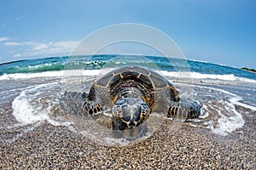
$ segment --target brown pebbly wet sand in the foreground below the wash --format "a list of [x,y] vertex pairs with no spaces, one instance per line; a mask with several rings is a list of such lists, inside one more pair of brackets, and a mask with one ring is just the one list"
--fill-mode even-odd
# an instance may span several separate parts
[[[6,110],[6,108],[9,108]],[[10,105],[1,125],[12,124]],[[172,133],[166,120],[148,139],[128,146],[98,144],[67,127],[41,123],[20,134],[19,127],[0,132],[0,169],[253,169],[256,167],[255,112],[237,106],[245,125],[228,136],[188,123]],[[171,132],[171,133],[170,133]]]

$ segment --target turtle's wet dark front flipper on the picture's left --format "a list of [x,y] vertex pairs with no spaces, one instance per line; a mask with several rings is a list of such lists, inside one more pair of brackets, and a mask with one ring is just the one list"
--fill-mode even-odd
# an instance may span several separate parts
[[94,116],[96,112],[102,111],[102,106],[93,100],[88,100],[87,94],[79,92],[65,92],[63,103],[67,113],[79,116]]

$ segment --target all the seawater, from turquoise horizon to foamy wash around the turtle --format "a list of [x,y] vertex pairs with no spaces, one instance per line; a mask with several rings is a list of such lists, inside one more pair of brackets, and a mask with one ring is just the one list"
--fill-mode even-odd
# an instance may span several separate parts
[[[3,117],[0,128],[19,129],[15,138],[5,142],[12,142],[47,121],[106,144],[129,144],[125,139],[112,137],[109,108],[103,111],[103,118],[81,119],[68,114],[66,105],[77,98],[67,100],[64,95],[65,91],[88,93],[93,82],[122,65],[141,65],[159,72],[174,84],[181,97],[194,99],[202,106],[199,119],[170,120],[173,133],[187,123],[206,128],[210,133],[229,135],[244,126],[244,114],[256,111],[256,74],[226,65],[141,55],[29,59],[0,65],[0,113]],[[7,118],[7,114],[14,120]],[[144,138],[152,135],[166,119],[165,114],[152,113]]]

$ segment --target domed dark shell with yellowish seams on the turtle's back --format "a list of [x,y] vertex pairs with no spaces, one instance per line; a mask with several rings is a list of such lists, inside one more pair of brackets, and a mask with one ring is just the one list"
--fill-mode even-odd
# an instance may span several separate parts
[[114,84],[124,78],[137,79],[142,82],[145,87],[151,88],[154,91],[169,88],[171,94],[173,94],[172,98],[174,98],[174,100],[177,99],[177,90],[173,87],[171,82],[166,80],[165,77],[160,76],[160,74],[139,66],[124,66],[111,71],[100,78],[95,85],[102,88],[112,88]]

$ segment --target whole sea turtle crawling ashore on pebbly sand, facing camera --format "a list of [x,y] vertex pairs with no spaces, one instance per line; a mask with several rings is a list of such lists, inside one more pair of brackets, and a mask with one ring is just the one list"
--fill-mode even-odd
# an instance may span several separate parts
[[181,120],[197,118],[201,106],[180,99],[176,88],[155,71],[139,66],[124,66],[97,80],[89,94],[79,94],[83,102],[75,108],[82,116],[94,116],[111,108],[113,129],[125,130],[145,122],[152,111]]

